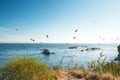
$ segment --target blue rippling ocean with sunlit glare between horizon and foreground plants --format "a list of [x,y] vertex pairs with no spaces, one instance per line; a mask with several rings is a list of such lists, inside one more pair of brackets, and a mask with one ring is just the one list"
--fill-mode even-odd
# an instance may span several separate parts
[[[68,47],[77,46],[76,49]],[[13,57],[31,56],[40,58],[48,65],[57,65],[62,61],[62,66],[84,65],[97,60],[100,53],[105,54],[106,60],[113,61],[117,55],[118,44],[61,44],[61,43],[0,43],[0,67],[7,59]],[[98,50],[86,50],[87,48],[100,48]],[[43,49],[49,49],[55,54],[44,55]]]

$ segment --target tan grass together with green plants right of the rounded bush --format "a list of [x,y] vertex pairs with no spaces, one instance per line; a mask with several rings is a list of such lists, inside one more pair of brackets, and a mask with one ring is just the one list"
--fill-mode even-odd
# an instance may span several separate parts
[[[58,80],[77,80],[79,78],[83,80],[120,80],[120,64],[114,61],[108,63],[106,58],[103,53],[100,53],[98,60],[88,63],[87,70],[83,65],[78,66],[77,64],[73,68],[67,67],[67,71],[60,68],[57,70],[57,77],[60,78]],[[61,74],[65,76],[60,77]],[[69,77],[67,77],[68,75]]]

